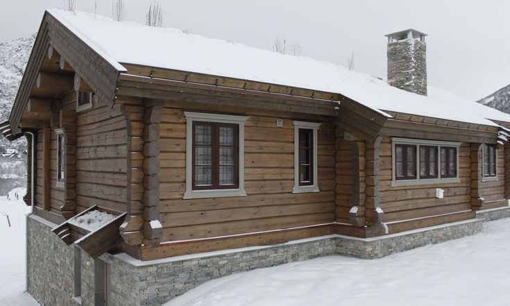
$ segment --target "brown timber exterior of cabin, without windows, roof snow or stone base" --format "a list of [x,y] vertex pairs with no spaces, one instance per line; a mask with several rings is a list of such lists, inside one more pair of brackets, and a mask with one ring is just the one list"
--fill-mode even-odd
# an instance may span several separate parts
[[[115,70],[46,14],[2,133],[35,134],[35,214],[62,223],[90,207],[126,213],[116,248],[141,260],[330,234],[375,237],[508,205],[509,146],[498,149],[497,179],[482,175],[482,145],[498,142],[495,126],[386,110],[389,118],[341,93],[123,65]],[[78,91],[94,94],[91,108],[76,110]],[[248,117],[246,195],[185,198],[185,112]],[[293,192],[294,121],[320,124],[318,192]],[[459,142],[458,181],[394,185],[395,137]]]

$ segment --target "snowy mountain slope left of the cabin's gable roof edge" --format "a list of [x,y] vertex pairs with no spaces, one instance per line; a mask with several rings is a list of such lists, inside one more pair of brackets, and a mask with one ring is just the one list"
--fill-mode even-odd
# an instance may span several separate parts
[[[34,40],[35,34],[0,43],[0,121],[8,119]],[[0,137],[0,146],[6,144]]]

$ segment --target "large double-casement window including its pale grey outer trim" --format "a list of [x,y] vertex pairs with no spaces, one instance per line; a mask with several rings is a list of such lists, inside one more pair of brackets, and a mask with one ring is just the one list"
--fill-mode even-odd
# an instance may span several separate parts
[[184,198],[246,196],[244,123],[248,117],[185,112]]

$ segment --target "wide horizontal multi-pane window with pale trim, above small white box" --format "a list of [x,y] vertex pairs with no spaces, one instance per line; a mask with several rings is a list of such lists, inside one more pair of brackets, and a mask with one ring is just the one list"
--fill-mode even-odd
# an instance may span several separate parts
[[392,139],[392,186],[459,182],[457,142]]

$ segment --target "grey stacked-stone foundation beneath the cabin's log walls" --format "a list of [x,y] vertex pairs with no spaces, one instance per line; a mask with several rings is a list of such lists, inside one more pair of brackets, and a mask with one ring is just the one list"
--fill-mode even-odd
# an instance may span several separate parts
[[[189,289],[232,273],[309,260],[325,255],[366,259],[482,232],[482,219],[434,226],[385,237],[359,239],[330,235],[272,246],[171,257],[141,262],[128,255],[105,254],[110,266],[110,304],[161,305]],[[74,247],[50,232],[53,224],[29,220],[28,291],[41,305],[78,305],[74,294]],[[94,260],[81,251],[81,305],[94,305]]]

